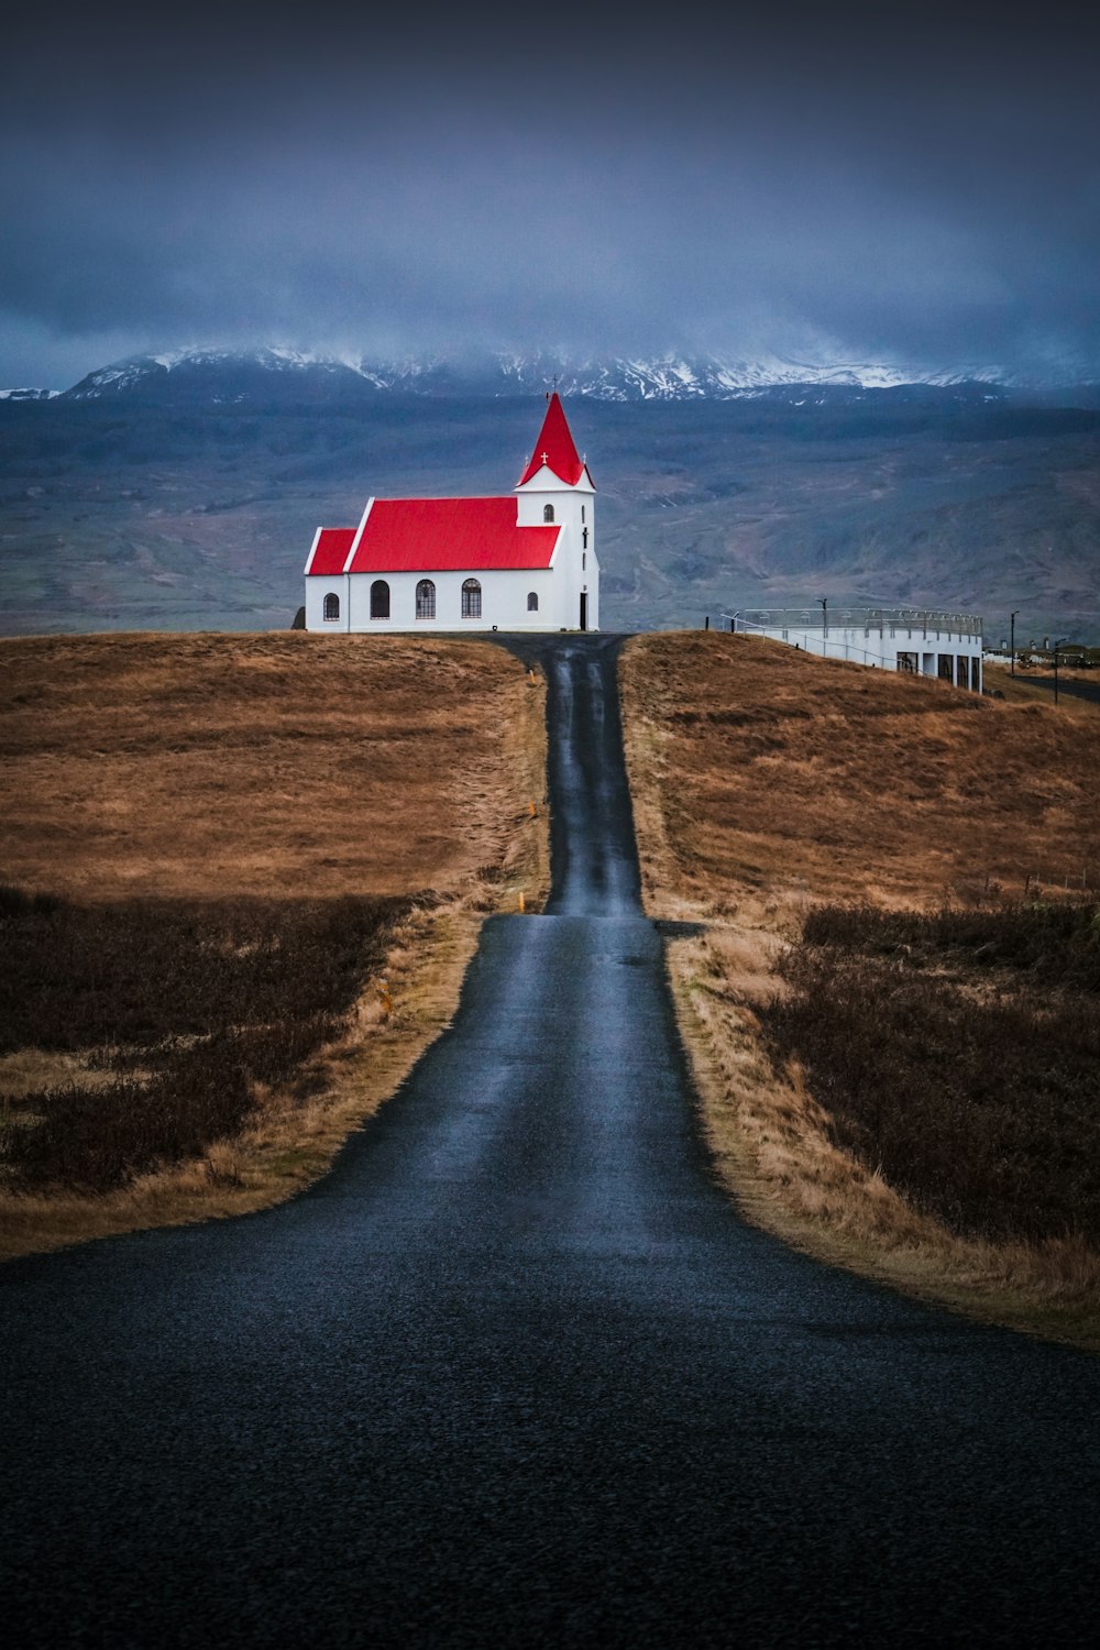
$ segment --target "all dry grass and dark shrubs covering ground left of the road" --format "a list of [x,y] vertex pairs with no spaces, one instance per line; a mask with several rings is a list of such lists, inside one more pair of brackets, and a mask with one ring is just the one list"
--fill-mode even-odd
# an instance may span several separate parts
[[289,1195],[546,891],[541,681],[407,637],[2,648],[0,1252]]

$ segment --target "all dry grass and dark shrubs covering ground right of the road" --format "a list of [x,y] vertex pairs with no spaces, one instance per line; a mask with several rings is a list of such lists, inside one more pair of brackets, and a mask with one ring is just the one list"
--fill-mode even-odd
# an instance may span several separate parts
[[[622,685],[648,908],[707,924],[670,970],[742,1204],[899,1287],[1100,1345],[1095,982],[1006,960],[1022,931],[1092,934],[1100,711],[714,634],[632,640]],[[1074,899],[1085,916],[1051,916]]]

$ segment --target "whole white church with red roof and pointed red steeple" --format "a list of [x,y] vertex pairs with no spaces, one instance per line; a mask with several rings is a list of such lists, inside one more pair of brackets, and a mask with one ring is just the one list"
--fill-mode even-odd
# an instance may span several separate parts
[[307,630],[599,630],[589,469],[557,391],[503,498],[368,498],[322,526],[305,563]]

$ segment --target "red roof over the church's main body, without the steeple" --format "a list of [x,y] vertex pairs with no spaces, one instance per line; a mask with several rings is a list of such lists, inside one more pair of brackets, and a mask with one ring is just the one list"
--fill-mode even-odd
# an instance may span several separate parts
[[307,573],[549,568],[561,526],[516,526],[511,497],[376,498],[361,528],[322,530]]

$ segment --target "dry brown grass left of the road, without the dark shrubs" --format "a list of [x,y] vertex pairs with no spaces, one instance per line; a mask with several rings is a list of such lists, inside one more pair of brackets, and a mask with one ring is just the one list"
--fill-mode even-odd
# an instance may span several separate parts
[[[366,982],[305,1104],[261,1094],[239,1138],[102,1196],[5,1195],[0,1254],[289,1196],[447,1023],[482,912],[546,894],[541,678],[490,644],[294,632],[38,637],[0,663],[0,879],[84,903],[434,894],[393,936],[393,1006]],[[21,1049],[3,1086],[86,1064]]]

